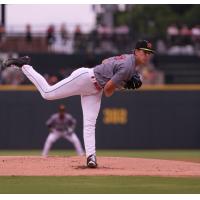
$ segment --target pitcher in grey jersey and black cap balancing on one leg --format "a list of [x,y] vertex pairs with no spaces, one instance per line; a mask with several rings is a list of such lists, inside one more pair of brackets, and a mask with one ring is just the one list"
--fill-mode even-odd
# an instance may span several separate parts
[[115,90],[124,88],[134,90],[141,87],[142,81],[136,68],[148,63],[152,53],[154,53],[152,44],[141,40],[136,43],[133,53],[108,58],[94,68],[79,68],[55,85],[49,85],[44,77],[29,65],[28,56],[8,59],[3,63],[3,67],[13,65],[21,67],[23,73],[37,87],[44,99],[81,96],[87,166],[95,168],[97,167],[95,126],[102,93],[109,97]]

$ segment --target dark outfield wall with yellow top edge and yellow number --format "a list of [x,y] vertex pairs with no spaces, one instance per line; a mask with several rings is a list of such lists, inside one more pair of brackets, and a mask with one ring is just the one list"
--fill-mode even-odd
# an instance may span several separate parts
[[[65,103],[83,143],[80,97],[46,101],[32,86],[0,88],[0,149],[41,149],[45,121]],[[200,86],[146,86],[102,99],[98,149],[200,148]],[[59,140],[54,148],[73,148]]]

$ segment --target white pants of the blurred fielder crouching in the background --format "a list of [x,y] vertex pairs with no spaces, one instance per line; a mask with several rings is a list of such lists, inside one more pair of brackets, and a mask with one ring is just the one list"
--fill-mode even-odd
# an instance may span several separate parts
[[51,133],[49,133],[49,135],[45,141],[44,148],[42,151],[42,156],[47,156],[53,143],[55,143],[61,137],[68,140],[69,142],[71,142],[74,145],[77,155],[79,155],[79,156],[84,155],[84,151],[81,146],[80,140],[78,139],[78,137],[75,133],[71,133],[69,135],[66,132],[53,130]]

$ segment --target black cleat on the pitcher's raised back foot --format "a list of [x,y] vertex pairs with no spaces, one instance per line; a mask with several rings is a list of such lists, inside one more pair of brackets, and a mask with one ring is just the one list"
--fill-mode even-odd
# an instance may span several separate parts
[[7,67],[11,67],[12,65],[15,65],[17,67],[22,67],[23,65],[29,64],[31,61],[31,58],[29,56],[23,56],[19,58],[9,58],[8,60],[5,60],[2,64],[2,68],[5,69]]

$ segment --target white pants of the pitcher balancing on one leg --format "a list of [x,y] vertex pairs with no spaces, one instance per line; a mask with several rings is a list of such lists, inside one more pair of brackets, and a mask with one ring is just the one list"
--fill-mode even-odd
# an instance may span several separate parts
[[98,90],[92,81],[92,77],[94,77],[93,69],[79,68],[69,77],[52,86],[32,66],[24,65],[22,71],[37,87],[44,99],[55,100],[75,95],[81,96],[86,156],[96,154],[95,127],[103,90]]

